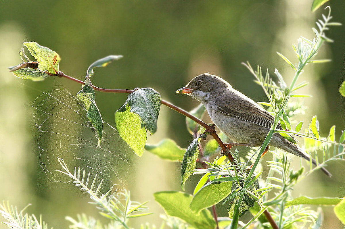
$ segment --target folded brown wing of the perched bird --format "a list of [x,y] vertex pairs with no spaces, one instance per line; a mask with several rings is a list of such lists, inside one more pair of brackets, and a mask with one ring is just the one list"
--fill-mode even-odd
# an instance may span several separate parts
[[[270,113],[259,107],[258,104],[248,97],[238,96],[238,94],[234,94],[231,97],[220,96],[215,102],[217,109],[226,115],[231,115],[268,129],[271,128],[274,122],[274,117]],[[283,130],[279,124],[276,129]]]

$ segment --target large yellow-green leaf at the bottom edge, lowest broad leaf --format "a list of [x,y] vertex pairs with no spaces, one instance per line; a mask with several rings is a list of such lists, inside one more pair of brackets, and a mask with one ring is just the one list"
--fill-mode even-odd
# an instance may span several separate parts
[[202,210],[198,215],[192,212],[189,204],[193,196],[184,192],[165,191],[154,193],[156,202],[164,209],[169,216],[178,217],[196,229],[214,229],[216,222],[211,212]]

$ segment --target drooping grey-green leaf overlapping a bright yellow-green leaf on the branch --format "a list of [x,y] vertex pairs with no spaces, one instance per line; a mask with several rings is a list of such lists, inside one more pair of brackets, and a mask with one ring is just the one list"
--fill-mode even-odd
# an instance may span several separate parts
[[[160,101],[160,94],[157,91],[152,88],[141,88],[130,93],[126,103],[130,106],[130,112],[139,115],[141,128],[146,127],[148,131],[155,133],[157,130]],[[124,106],[118,112],[124,111]]]

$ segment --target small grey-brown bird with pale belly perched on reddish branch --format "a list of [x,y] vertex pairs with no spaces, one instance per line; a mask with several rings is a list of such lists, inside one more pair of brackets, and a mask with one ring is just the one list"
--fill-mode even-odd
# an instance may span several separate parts
[[[235,90],[224,79],[209,73],[200,74],[176,93],[188,94],[201,102],[215,125],[233,142],[262,146],[274,117],[256,102]],[[283,128],[278,125],[278,130]],[[274,133],[270,146],[280,148],[309,161],[309,155],[298,145]],[[267,148],[268,150],[268,148]],[[316,165],[315,159],[312,159]],[[332,176],[325,168],[321,168]]]

